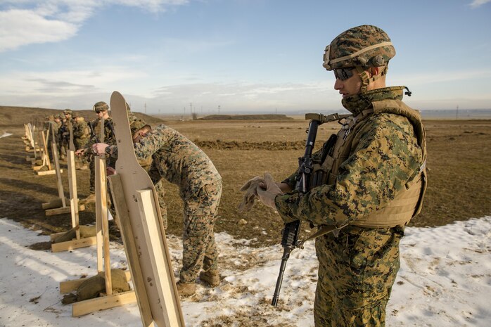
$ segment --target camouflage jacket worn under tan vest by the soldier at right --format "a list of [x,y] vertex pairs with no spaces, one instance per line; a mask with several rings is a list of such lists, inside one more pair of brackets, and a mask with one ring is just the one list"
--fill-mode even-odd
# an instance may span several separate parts
[[[356,116],[373,108],[376,101],[396,99],[402,99],[399,88],[384,88],[344,98],[343,105]],[[305,194],[293,191],[276,196],[276,209],[285,222],[300,219],[316,226],[353,222],[390,203],[402,181],[419,173],[426,158],[407,117],[371,114],[359,124],[333,183],[315,186]],[[320,156],[319,150],[312,157],[315,161]],[[294,187],[294,180],[295,174],[284,182]]]

